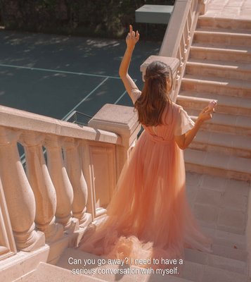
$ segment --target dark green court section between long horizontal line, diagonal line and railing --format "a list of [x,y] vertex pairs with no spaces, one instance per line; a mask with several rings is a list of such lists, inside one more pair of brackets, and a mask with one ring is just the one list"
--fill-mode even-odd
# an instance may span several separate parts
[[62,119],[102,81],[80,75],[44,73],[0,66],[2,105]]

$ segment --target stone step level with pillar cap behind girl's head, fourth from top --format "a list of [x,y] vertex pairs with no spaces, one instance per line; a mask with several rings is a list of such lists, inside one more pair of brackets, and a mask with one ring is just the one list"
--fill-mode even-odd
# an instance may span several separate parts
[[251,66],[250,63],[189,59],[186,63],[186,73],[189,75],[250,80]]

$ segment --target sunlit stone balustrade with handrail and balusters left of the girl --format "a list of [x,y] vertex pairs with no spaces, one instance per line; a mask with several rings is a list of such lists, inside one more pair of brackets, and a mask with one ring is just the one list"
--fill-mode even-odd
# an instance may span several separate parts
[[139,132],[136,113],[122,108],[130,125],[116,134],[105,116],[110,131],[0,106],[0,258],[55,243],[103,214]]

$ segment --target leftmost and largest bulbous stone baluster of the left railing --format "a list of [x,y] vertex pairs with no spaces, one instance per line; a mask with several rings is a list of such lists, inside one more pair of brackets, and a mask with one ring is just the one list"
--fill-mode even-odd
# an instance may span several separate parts
[[20,133],[0,127],[0,173],[18,250],[30,252],[44,246],[44,233],[34,231],[36,204],[18,154]]

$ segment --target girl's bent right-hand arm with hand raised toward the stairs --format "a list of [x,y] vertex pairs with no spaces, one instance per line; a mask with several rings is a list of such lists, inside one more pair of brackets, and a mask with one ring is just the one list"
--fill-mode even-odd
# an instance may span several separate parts
[[186,149],[190,145],[195,135],[198,133],[198,130],[200,129],[202,123],[212,118],[212,113],[214,113],[214,109],[209,109],[207,106],[202,110],[191,130],[189,130],[184,135],[175,136],[175,141],[181,149]]

